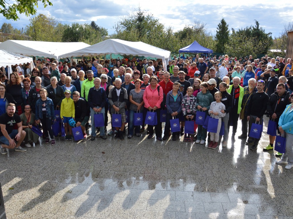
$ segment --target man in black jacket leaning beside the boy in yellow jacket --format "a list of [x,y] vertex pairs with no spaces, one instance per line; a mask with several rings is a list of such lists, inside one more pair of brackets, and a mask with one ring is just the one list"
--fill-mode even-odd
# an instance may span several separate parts
[[72,93],[73,101],[74,101],[74,108],[75,108],[75,121],[76,126],[81,127],[81,131],[84,135],[84,139],[86,138],[86,123],[90,119],[90,115],[88,112],[88,105],[83,98],[80,98],[80,94],[78,91],[74,91]]

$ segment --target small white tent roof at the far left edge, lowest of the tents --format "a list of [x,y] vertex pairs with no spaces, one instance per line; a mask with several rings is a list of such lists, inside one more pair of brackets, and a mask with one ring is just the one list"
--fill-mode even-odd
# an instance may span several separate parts
[[33,59],[24,55],[11,53],[0,49],[0,67],[6,65],[19,65],[20,63],[33,62]]

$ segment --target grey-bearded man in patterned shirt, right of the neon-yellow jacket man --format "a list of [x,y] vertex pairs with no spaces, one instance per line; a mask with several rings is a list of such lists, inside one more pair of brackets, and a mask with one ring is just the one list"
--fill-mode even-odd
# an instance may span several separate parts
[[[247,116],[248,116],[248,105],[251,99],[251,95],[257,92],[256,89],[256,80],[251,78],[248,80],[248,86],[243,88],[243,99],[241,103],[241,109],[244,109],[244,118],[241,120],[242,122],[242,134],[238,136],[239,139],[247,138]],[[249,130],[250,131],[250,130]]]

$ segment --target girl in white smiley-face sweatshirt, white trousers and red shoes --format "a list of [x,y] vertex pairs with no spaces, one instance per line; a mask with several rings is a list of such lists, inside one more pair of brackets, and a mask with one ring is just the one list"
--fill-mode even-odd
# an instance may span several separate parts
[[219,133],[222,125],[222,117],[226,116],[226,113],[222,113],[222,110],[225,110],[225,105],[221,102],[222,99],[222,93],[220,91],[215,93],[215,99],[216,101],[211,103],[211,106],[209,107],[209,114],[213,115],[214,118],[218,119],[218,128],[217,133],[211,134],[211,141],[209,142],[208,148],[216,149],[218,147],[218,141],[219,141]]

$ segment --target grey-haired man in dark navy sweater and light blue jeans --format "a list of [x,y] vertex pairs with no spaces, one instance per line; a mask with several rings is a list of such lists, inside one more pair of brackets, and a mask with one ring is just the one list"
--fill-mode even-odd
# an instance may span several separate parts
[[[106,91],[103,87],[100,86],[101,79],[95,78],[92,88],[88,91],[88,105],[91,107],[91,141],[96,139],[96,126],[94,120],[94,114],[102,113],[103,114],[103,123],[105,121],[105,105],[107,104],[106,100]],[[105,136],[105,127],[100,127],[100,138],[106,140]]]

